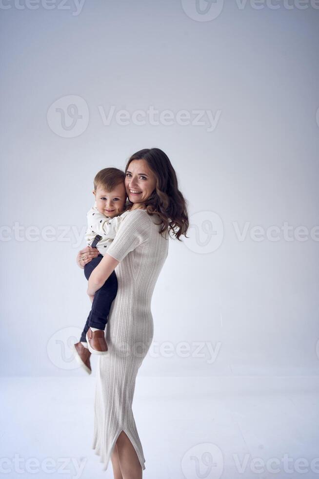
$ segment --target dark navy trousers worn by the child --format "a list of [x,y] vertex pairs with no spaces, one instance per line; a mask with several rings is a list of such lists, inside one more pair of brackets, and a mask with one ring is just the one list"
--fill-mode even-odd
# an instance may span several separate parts
[[[88,280],[94,268],[100,263],[103,255],[99,254],[84,266],[85,278]],[[102,287],[96,291],[90,314],[86,320],[80,341],[86,342],[86,333],[90,326],[104,329],[110,308],[118,292],[118,279],[113,271]]]

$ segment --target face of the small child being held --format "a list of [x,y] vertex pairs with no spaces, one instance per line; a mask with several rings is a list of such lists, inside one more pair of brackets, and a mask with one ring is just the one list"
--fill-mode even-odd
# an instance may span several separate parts
[[97,191],[93,191],[93,193],[97,202],[97,208],[103,215],[113,218],[124,211],[126,201],[124,182],[119,183],[112,191],[106,191],[98,185]]

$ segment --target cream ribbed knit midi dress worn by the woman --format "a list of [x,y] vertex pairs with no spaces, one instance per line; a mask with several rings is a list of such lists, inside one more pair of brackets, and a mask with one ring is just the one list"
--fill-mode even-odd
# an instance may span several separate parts
[[146,210],[124,213],[107,253],[120,261],[115,268],[118,292],[105,329],[107,354],[99,356],[94,407],[93,449],[108,468],[121,431],[132,442],[142,469],[145,458],[132,402],[135,380],[153,339],[151,299],[168,254],[168,235],[159,234],[159,217]]

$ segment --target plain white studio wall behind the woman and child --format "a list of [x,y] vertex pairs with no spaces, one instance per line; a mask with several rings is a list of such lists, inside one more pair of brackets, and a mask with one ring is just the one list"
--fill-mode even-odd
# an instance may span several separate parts
[[82,374],[93,177],[151,147],[192,226],[139,374],[318,374],[319,5],[202,1],[1,4],[1,375]]

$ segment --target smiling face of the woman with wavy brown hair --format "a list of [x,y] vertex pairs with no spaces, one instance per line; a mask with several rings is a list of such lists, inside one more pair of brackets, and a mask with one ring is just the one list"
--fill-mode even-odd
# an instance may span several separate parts
[[127,196],[132,203],[144,203],[153,193],[156,176],[148,167],[146,160],[132,160],[125,177]]

